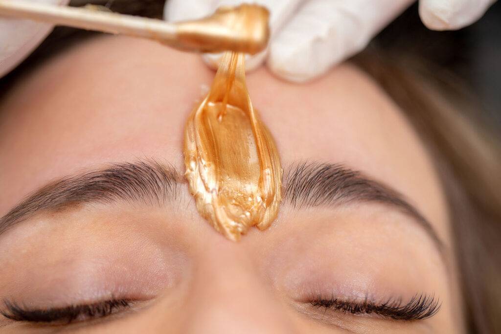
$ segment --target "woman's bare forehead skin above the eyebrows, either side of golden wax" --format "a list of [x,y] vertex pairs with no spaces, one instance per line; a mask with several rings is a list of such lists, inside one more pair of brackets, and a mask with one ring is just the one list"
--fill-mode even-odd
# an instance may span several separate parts
[[[153,157],[183,169],[184,123],[213,75],[196,55],[122,37],[88,41],[43,65],[0,105],[0,215],[82,168]],[[361,170],[402,192],[444,231],[431,160],[367,76],[342,65],[306,85],[264,69],[247,79],[284,166],[308,159]]]

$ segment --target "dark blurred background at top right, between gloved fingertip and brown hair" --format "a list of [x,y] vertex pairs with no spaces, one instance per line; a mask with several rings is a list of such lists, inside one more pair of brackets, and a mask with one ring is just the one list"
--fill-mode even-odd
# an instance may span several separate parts
[[473,25],[428,30],[413,5],[374,40],[392,53],[413,55],[454,73],[479,99],[481,112],[501,131],[501,2]]

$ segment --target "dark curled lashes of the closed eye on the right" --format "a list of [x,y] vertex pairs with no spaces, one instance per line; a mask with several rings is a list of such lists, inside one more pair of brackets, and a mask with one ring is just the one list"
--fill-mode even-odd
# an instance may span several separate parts
[[351,314],[376,314],[394,320],[422,320],[433,316],[440,309],[438,299],[424,294],[415,295],[407,303],[402,301],[387,301],[375,303],[372,301],[352,301],[339,298],[312,298],[310,304],[314,307],[331,309]]

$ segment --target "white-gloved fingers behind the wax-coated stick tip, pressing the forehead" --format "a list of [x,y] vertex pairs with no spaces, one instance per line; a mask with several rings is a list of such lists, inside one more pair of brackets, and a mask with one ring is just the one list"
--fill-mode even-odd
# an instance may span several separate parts
[[[455,30],[478,20],[495,0],[420,0],[419,14],[432,30]],[[171,22],[207,16],[222,5],[243,0],[168,0]],[[414,0],[250,0],[271,13],[267,51],[247,57],[247,70],[265,60],[272,72],[305,82],[365,48],[369,41]],[[412,37],[409,37],[412,38]],[[218,55],[204,55],[210,66]]]

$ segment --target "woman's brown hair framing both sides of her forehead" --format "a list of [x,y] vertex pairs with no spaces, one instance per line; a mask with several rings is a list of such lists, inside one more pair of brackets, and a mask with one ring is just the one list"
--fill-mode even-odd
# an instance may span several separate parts
[[[89,1],[73,1],[73,5]],[[159,18],[163,0],[97,0],[115,12]],[[0,91],[62,48],[94,33],[57,28]],[[469,332],[501,332],[501,151],[458,79],[422,62],[369,47],[352,61],[387,92],[418,130],[445,189]]]

